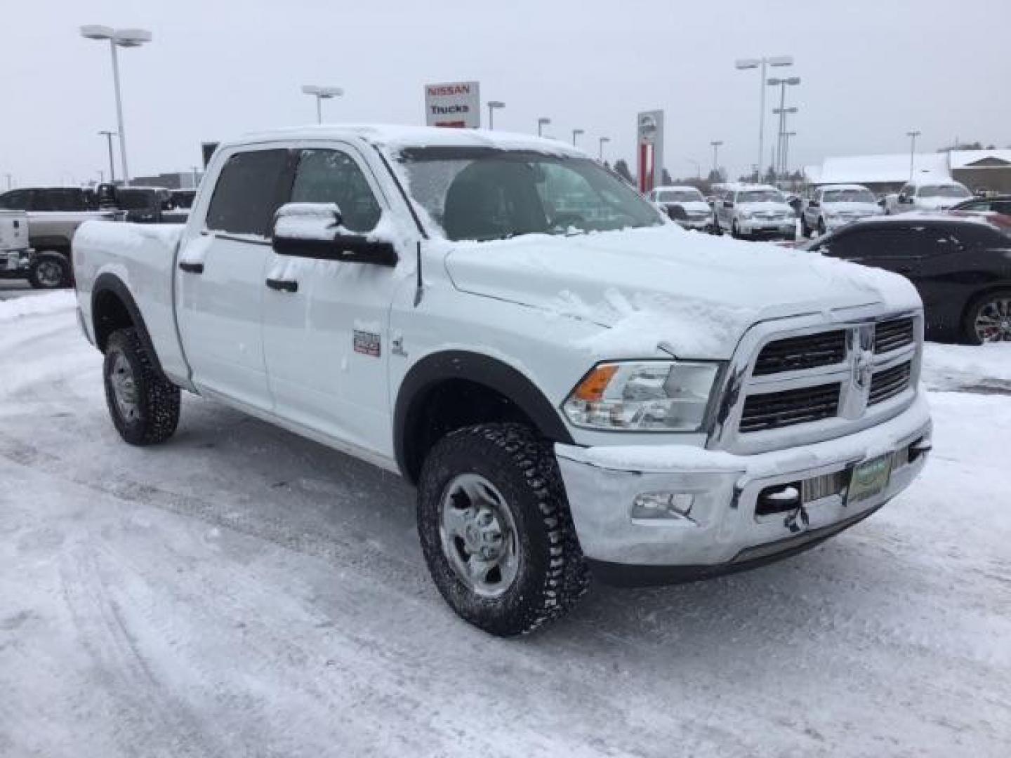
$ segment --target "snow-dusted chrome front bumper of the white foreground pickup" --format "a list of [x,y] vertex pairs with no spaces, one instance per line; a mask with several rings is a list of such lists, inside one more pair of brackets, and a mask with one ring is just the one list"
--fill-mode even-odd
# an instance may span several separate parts
[[[734,455],[691,446],[580,448],[558,444],[562,479],[583,554],[618,583],[685,580],[792,555],[852,526],[908,487],[925,452],[893,469],[876,495],[846,503],[845,489],[805,501],[807,524],[786,512],[758,514],[769,487],[841,473],[862,461],[929,447],[922,394],[898,416],[847,437],[802,448]],[[694,495],[691,517],[639,519],[637,495]],[[626,569],[625,572],[622,569]],[[627,574],[622,578],[620,574]]]

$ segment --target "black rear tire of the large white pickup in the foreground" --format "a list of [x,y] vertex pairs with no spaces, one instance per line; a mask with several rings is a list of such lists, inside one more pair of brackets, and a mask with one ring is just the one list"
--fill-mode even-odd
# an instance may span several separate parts
[[[118,379],[113,374],[131,382],[131,412],[117,400],[114,385]],[[155,372],[136,329],[119,329],[109,336],[102,378],[109,415],[124,442],[156,445],[172,437],[179,425],[179,387]]]

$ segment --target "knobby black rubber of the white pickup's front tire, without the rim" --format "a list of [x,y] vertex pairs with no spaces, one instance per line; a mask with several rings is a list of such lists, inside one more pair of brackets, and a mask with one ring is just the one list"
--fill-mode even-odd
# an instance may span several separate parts
[[[515,522],[517,573],[496,597],[468,587],[443,549],[442,501],[461,474],[492,483]],[[563,615],[588,586],[558,462],[550,445],[523,424],[468,427],[436,444],[419,482],[418,532],[446,602],[460,618],[497,637],[532,632]]]

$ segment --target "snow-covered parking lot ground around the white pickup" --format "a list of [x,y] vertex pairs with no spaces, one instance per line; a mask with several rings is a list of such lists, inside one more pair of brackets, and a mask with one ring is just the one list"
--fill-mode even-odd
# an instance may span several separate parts
[[0,756],[1011,755],[1011,345],[928,346],[870,519],[513,641],[395,477],[189,396],[128,447],[99,369],[70,293],[0,302]]

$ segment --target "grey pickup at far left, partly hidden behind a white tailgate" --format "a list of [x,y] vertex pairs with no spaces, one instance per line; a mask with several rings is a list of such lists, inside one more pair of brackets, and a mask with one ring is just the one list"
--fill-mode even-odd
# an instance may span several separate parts
[[0,195],[0,209],[22,210],[28,217],[31,253],[16,276],[36,289],[71,285],[71,240],[77,227],[92,218],[114,217],[98,210],[98,198],[81,187],[25,187]]

